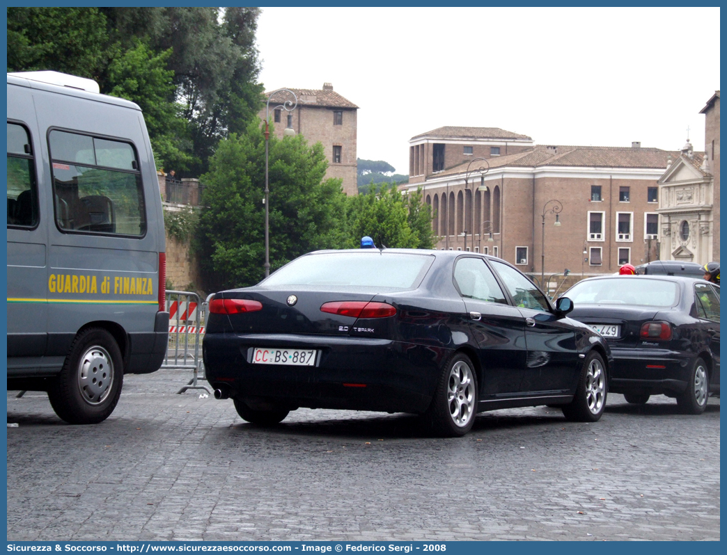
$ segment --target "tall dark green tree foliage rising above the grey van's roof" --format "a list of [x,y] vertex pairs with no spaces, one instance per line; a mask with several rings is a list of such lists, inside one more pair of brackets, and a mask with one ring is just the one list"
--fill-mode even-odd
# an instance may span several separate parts
[[158,167],[197,177],[262,107],[260,8],[11,7],[8,71],[95,79],[144,111]]

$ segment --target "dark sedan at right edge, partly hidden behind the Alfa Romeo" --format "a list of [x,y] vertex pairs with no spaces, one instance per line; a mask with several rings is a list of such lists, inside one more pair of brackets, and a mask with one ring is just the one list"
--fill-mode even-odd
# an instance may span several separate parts
[[720,392],[720,286],[667,275],[583,280],[565,295],[571,317],[611,344],[611,392],[643,404],[651,395],[675,397],[700,414]]

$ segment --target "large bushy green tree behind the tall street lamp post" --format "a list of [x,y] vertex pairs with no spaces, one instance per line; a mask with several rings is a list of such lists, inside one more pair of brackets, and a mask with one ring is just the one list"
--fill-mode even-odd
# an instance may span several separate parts
[[[301,254],[345,240],[346,196],[340,179],[325,179],[320,143],[270,134],[270,270]],[[265,139],[260,120],[222,140],[202,177],[204,205],[198,248],[209,289],[253,285],[264,277]],[[341,218],[340,215],[344,214]]]

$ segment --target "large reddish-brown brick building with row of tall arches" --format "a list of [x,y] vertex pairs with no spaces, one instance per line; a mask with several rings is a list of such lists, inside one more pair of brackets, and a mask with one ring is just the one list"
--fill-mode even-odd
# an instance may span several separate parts
[[[457,129],[475,131],[457,138],[457,131],[449,132]],[[448,142],[434,142],[437,137]],[[429,142],[422,142],[425,138]],[[499,153],[491,150],[495,141],[505,143]],[[541,271],[550,275],[566,268],[574,274],[608,274],[626,262],[658,258],[657,182],[678,152],[642,148],[638,142],[631,147],[533,145],[530,137],[492,128],[444,127],[410,143],[420,147],[418,154],[410,150],[410,159],[419,155],[421,173],[415,175],[417,163],[411,164],[409,185],[403,187],[421,187],[432,206],[436,248],[494,254],[537,278]],[[435,156],[441,152],[438,144],[445,145],[443,168]],[[486,173],[478,171],[481,167]],[[558,214],[556,201],[562,205]]]

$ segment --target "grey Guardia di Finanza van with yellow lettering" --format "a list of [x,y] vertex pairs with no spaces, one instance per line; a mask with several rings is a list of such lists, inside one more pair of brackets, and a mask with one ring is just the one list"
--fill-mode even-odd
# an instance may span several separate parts
[[7,386],[71,424],[166,351],[164,213],[140,108],[95,81],[7,75]]

